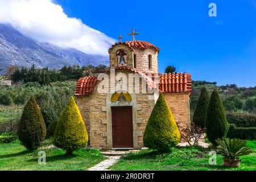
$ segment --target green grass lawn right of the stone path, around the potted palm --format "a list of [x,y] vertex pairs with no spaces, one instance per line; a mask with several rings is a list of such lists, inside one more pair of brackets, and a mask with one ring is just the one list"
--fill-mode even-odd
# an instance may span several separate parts
[[159,155],[154,150],[142,150],[135,154],[122,156],[111,170],[121,171],[201,171],[201,170],[256,170],[256,141],[249,141],[247,146],[253,148],[254,153],[242,156],[239,168],[223,167],[221,155],[217,155],[217,165],[209,164],[209,149],[202,147],[174,148],[170,154]]

